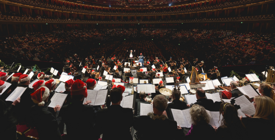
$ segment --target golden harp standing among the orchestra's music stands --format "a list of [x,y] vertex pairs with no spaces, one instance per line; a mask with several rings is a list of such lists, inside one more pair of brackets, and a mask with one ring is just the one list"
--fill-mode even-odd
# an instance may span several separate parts
[[200,78],[198,76],[198,71],[194,66],[192,66],[191,76],[190,76],[190,88],[202,88],[205,87],[205,83],[200,83]]

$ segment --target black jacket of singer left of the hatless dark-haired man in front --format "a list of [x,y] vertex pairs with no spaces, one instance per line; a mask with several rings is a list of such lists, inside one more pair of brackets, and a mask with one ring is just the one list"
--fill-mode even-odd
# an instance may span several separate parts
[[95,135],[96,112],[93,106],[83,105],[82,101],[62,106],[58,117],[66,124],[68,139],[91,139]]

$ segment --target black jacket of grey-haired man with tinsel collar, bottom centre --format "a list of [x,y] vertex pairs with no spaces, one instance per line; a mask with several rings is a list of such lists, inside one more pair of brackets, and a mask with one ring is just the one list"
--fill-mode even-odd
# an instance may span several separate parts
[[[138,131],[140,140],[182,140],[184,139],[183,129],[178,130],[177,122],[168,119],[165,115],[156,117],[156,114],[150,113],[150,116],[134,117],[134,129]],[[149,126],[154,129],[148,131]]]

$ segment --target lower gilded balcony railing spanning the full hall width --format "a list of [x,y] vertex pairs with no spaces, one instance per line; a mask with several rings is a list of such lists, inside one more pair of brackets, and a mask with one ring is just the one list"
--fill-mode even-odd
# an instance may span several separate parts
[[242,16],[233,18],[215,18],[215,19],[194,19],[194,20],[157,20],[157,21],[90,21],[90,20],[59,20],[59,19],[42,19],[42,18],[29,18],[29,17],[19,17],[19,16],[0,16],[0,21],[2,23],[54,23],[54,24],[109,24],[109,23],[191,23],[191,22],[230,22],[230,21],[273,21],[274,15],[261,15],[261,16]]

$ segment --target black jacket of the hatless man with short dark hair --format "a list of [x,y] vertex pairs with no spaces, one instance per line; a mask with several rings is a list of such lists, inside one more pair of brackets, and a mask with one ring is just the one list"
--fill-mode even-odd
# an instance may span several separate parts
[[132,140],[130,127],[133,123],[132,109],[112,105],[97,112],[95,130],[98,136],[103,134],[102,140]]

